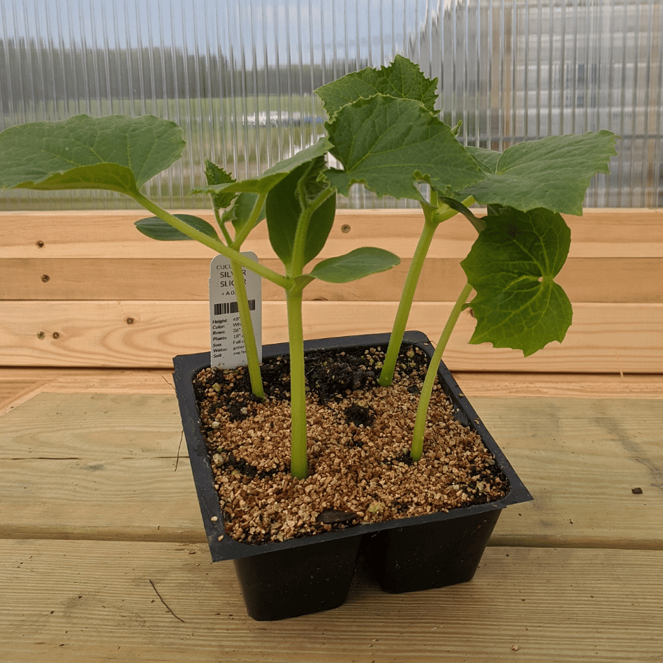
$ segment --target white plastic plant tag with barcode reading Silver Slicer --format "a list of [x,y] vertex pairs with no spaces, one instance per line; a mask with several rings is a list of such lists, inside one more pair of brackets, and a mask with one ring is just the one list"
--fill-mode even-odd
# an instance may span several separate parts
[[[242,253],[258,262],[258,256],[252,252]],[[242,268],[247,288],[247,299],[251,311],[258,361],[263,360],[262,334],[262,290],[261,277]],[[210,264],[210,360],[213,368],[237,368],[247,365],[247,353],[242,334],[240,309],[235,292],[235,279],[231,263],[226,256],[219,254]]]

